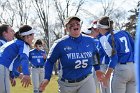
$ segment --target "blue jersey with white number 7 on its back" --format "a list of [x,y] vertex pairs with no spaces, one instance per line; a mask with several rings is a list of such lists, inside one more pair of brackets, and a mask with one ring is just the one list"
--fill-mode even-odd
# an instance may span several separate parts
[[[105,56],[110,57],[109,67],[114,68],[117,63],[134,62],[134,41],[126,31],[114,31],[114,43],[116,54],[111,55],[112,52],[112,37],[109,32],[106,34],[109,42],[103,46],[106,53]],[[105,40],[105,38],[104,38]],[[103,44],[102,44],[103,45]]]

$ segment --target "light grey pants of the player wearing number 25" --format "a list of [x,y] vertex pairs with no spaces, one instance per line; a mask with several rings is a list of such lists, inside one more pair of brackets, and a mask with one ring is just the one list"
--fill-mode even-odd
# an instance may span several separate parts
[[58,80],[59,93],[96,93],[93,74],[78,83],[68,83]]

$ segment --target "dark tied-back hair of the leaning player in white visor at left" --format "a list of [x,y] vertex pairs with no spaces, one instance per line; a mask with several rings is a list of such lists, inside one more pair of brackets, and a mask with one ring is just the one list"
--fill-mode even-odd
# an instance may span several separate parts
[[23,25],[23,26],[21,26],[21,27],[19,28],[19,31],[15,33],[15,37],[16,37],[17,39],[23,40],[23,36],[21,36],[20,34],[23,33],[23,32],[27,32],[27,31],[29,31],[29,30],[31,30],[31,29],[32,29],[31,26],[29,26],[29,25]]

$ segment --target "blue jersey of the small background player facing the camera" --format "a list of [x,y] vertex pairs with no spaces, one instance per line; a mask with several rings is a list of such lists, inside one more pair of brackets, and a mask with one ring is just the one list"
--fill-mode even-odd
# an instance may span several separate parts
[[34,67],[37,66],[44,66],[45,59],[43,55],[46,55],[46,52],[44,50],[37,50],[37,49],[32,49],[29,52],[29,61],[31,62],[31,65]]

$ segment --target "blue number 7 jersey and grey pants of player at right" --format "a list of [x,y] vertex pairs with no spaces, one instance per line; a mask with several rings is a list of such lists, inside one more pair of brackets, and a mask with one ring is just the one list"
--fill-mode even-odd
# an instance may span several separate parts
[[[111,58],[109,67],[114,68],[111,93],[136,93],[134,72],[134,41],[126,31],[113,31],[116,54],[111,56],[111,34],[105,35],[109,44],[103,45],[106,55]],[[107,47],[107,49],[106,49]]]

